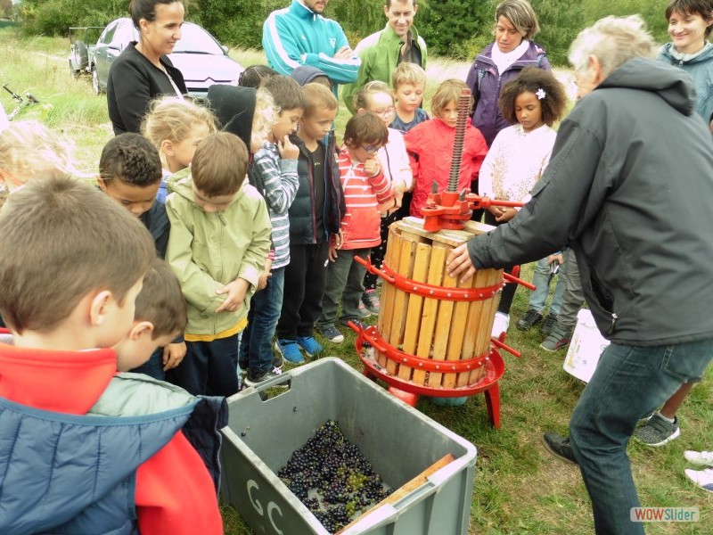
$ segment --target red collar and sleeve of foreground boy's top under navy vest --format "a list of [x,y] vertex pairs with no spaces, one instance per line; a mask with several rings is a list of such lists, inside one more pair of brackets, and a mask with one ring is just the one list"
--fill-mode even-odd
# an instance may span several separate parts
[[[54,351],[0,343],[0,397],[47,411],[84,415],[116,374],[113,350]],[[223,533],[216,490],[183,432],[136,471],[139,531]]]

